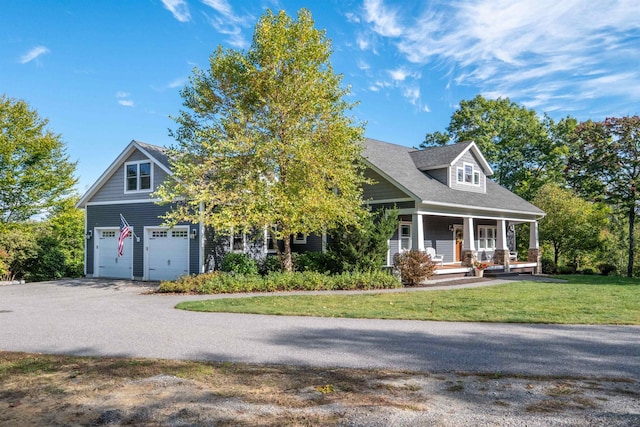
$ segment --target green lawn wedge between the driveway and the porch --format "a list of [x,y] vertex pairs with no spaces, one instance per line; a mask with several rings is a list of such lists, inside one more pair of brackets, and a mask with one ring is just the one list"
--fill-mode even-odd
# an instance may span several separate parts
[[193,301],[207,312],[469,322],[640,325],[640,280],[563,276],[474,289]]

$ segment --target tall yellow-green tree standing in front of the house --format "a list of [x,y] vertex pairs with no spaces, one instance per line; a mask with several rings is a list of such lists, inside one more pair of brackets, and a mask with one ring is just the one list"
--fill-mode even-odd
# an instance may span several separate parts
[[194,71],[171,133],[176,179],[157,192],[185,200],[168,222],[268,229],[291,271],[291,236],[358,221],[364,126],[347,115],[354,104],[330,55],[307,10],[296,20],[267,11],[248,51],[218,47]]

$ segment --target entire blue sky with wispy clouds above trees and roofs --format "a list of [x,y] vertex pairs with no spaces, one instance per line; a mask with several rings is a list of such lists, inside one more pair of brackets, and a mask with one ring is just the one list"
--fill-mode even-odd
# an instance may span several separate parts
[[636,0],[3,0],[0,93],[49,119],[83,193],[132,139],[172,144],[179,90],[218,45],[303,7],[371,138],[417,146],[477,94],[554,119],[640,113]]

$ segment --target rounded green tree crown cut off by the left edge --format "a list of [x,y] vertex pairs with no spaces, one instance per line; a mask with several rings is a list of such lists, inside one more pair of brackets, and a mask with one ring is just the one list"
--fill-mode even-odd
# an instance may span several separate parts
[[47,125],[26,102],[0,96],[0,223],[26,221],[72,192],[76,163]]

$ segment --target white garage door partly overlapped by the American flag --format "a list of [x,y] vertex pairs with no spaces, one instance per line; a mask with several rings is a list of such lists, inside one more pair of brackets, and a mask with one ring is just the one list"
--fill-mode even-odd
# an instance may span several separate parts
[[95,277],[133,279],[133,239],[131,234],[125,239],[122,256],[118,256],[120,229],[114,227],[95,230],[94,235],[97,236],[93,269]]

